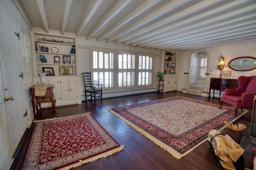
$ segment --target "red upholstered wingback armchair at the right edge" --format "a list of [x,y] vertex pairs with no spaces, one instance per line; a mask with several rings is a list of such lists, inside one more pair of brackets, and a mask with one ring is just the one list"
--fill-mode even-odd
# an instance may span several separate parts
[[222,108],[222,102],[231,104],[235,108],[234,117],[238,108],[252,108],[253,99],[256,96],[256,76],[240,76],[238,77],[238,88],[225,89],[225,93],[220,99],[220,109]]

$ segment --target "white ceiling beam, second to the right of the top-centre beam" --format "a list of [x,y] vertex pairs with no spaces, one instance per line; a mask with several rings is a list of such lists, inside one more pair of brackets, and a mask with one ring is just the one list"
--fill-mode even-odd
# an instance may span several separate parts
[[[153,11],[151,14],[147,15],[146,17],[134,22],[133,24],[127,26],[122,30],[122,32],[116,32],[116,34],[106,40],[106,42],[111,42],[113,40],[116,41],[117,38],[120,38],[122,36],[125,36],[129,34],[130,32],[140,28],[141,26],[144,26],[148,22],[152,22],[153,20],[157,19],[160,16],[163,16],[164,14],[182,6],[183,4],[186,4],[186,2],[189,2],[190,0],[173,0],[172,2],[166,4],[165,6],[158,8],[157,10]],[[116,42],[117,44],[120,43]]]

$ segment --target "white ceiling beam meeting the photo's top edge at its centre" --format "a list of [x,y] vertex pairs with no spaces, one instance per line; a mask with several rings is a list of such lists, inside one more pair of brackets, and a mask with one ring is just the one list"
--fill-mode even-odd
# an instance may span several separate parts
[[113,8],[111,8],[111,10],[100,20],[100,22],[98,22],[98,24],[94,26],[94,29],[91,30],[90,33],[86,36],[86,40],[89,40],[90,38],[92,38],[92,36],[94,36],[94,34],[96,34],[96,32],[104,28],[104,26],[106,26],[106,24],[108,24],[110,20],[118,15],[118,13],[121,12],[124,7],[126,7],[126,5],[128,5],[130,2],[132,2],[132,0],[118,1],[113,6]]

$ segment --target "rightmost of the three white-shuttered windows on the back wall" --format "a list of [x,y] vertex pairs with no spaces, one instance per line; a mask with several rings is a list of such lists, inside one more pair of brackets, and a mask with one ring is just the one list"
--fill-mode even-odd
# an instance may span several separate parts
[[152,84],[152,57],[139,55],[138,85],[147,86]]

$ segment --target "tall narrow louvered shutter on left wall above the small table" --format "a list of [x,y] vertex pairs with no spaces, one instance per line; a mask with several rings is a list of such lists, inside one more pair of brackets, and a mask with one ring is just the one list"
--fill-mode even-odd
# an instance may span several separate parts
[[29,86],[32,86],[30,39],[29,39],[29,36],[23,31],[20,32],[20,38],[21,38],[21,45],[22,45],[22,56],[24,58],[25,86],[26,88],[28,88]]

